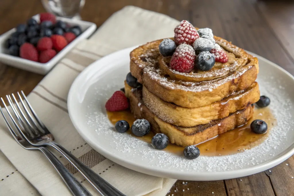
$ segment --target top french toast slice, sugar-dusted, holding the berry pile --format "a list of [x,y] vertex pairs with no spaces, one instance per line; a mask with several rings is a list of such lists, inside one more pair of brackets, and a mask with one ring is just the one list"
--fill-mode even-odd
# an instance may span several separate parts
[[[217,37],[215,36],[215,38]],[[138,82],[144,84],[151,93],[167,102],[175,103],[182,107],[197,108],[220,101],[234,92],[242,91],[251,86],[257,78],[259,69],[257,58],[230,42],[219,39],[223,42],[223,48],[227,48],[227,50],[231,48],[231,51],[235,52],[235,56],[240,56],[241,54],[239,53],[242,53],[240,57],[245,58],[246,56],[246,60],[244,59],[240,66],[235,66],[231,70],[232,72],[225,76],[219,75],[219,78],[201,82],[173,79],[181,75],[176,74],[177,76],[173,76],[170,73],[170,76],[165,69],[161,69],[162,67],[159,66],[158,60],[164,60],[158,51],[161,40],[149,42],[131,52],[131,74],[138,79]],[[218,41],[218,38],[216,41]],[[221,43],[220,41],[219,43]],[[195,74],[199,75],[200,73]]]

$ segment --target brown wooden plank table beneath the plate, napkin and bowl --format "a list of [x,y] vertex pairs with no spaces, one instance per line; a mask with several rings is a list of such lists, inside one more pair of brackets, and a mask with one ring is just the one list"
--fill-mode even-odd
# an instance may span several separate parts
[[[259,54],[294,74],[294,2],[86,0],[81,16],[83,20],[100,26],[113,12],[126,5],[157,11],[178,20],[186,19],[199,28],[210,27],[215,35]],[[0,34],[44,11],[40,0],[1,0]],[[20,90],[28,94],[43,77],[1,64],[0,96]],[[294,179],[291,176],[294,176],[294,156],[270,170],[247,177],[208,182],[187,181],[187,185],[183,185],[186,181],[178,180],[167,195],[294,195]]]

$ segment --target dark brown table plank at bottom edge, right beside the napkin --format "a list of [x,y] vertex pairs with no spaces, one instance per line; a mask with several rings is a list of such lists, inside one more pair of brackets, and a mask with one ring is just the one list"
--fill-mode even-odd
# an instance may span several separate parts
[[[186,182],[188,183],[186,184]],[[227,195],[223,180],[218,180],[218,181],[178,180],[166,196],[168,195],[172,196],[172,194],[174,196],[205,196],[205,195],[225,196]]]

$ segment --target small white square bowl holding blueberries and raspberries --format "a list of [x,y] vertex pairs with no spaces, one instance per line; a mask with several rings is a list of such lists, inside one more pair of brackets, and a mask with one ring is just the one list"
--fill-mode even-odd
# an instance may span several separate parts
[[[36,21],[40,21],[39,14],[33,16]],[[8,54],[8,49],[4,47],[6,39],[8,39],[12,33],[16,31],[13,28],[0,36],[0,62],[14,66],[16,68],[24,69],[27,71],[39,73],[45,75],[48,73],[58,61],[60,61],[66,53],[68,53],[79,41],[88,38],[97,28],[96,24],[87,21],[67,19],[63,17],[56,16],[56,20],[61,20],[69,24],[70,26],[78,25],[82,29],[82,33],[76,37],[71,43],[69,43],[65,48],[63,48],[59,53],[56,54],[47,63],[39,63],[35,61],[30,61],[21,57],[12,56]]]

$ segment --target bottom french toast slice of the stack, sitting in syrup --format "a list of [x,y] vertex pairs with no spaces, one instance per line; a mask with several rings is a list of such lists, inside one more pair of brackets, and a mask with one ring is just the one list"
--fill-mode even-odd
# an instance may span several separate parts
[[[128,91],[127,88],[125,88],[125,91]],[[238,110],[222,119],[212,120],[205,125],[181,127],[166,123],[151,113],[143,104],[142,90],[132,89],[128,94],[134,117],[148,120],[154,133],[164,133],[171,143],[180,146],[195,145],[243,125],[252,117],[254,110],[254,105],[249,104],[243,110]]]

